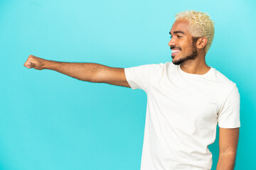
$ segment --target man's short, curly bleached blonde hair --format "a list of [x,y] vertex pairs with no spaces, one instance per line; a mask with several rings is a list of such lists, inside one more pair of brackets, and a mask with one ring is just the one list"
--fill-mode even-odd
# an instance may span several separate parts
[[207,38],[206,53],[208,52],[214,37],[214,22],[208,13],[199,11],[183,11],[176,13],[175,19],[186,19],[189,22],[189,32],[195,38]]

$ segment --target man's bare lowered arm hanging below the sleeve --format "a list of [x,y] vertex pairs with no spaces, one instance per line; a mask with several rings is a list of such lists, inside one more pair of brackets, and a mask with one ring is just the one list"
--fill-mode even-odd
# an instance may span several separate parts
[[235,155],[238,147],[239,128],[219,130],[220,154],[217,170],[233,170],[235,168]]

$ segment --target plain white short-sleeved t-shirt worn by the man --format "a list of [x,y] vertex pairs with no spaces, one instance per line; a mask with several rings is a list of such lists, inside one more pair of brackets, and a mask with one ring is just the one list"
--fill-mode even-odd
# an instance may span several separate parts
[[213,67],[203,75],[180,65],[146,64],[124,69],[132,89],[147,94],[141,170],[211,169],[208,145],[220,128],[240,127],[240,94]]

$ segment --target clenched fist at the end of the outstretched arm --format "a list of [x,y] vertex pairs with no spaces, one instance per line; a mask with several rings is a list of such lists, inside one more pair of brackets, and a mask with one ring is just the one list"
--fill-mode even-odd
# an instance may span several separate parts
[[43,65],[45,61],[46,60],[43,60],[39,57],[29,55],[28,60],[26,60],[26,62],[23,65],[28,69],[34,68],[34,69],[42,70],[44,69]]

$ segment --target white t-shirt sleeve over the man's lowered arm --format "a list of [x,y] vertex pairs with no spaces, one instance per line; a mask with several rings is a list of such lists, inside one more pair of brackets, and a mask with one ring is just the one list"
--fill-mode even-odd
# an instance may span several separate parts
[[220,128],[240,128],[240,94],[235,85],[218,114]]

